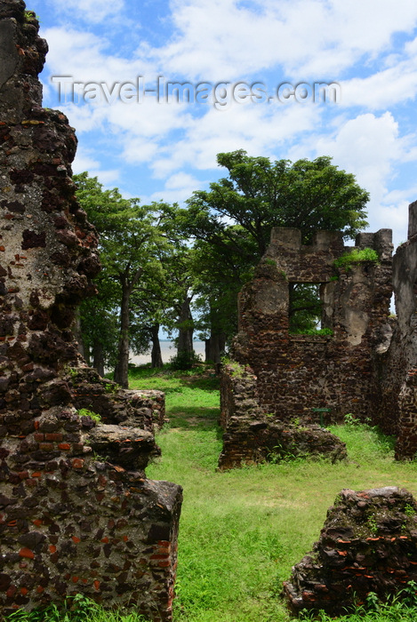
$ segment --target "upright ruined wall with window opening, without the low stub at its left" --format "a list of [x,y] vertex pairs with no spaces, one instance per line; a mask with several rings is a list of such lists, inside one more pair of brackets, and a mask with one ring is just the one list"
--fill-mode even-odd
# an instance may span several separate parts
[[[388,324],[391,296],[390,230],[357,236],[357,248],[378,251],[380,263],[349,269],[333,265],[351,250],[341,234],[318,232],[301,244],[296,229],[277,228],[252,283],[240,299],[233,357],[250,364],[264,411],[279,419],[311,419],[313,408],[369,416],[373,395],[373,348]],[[320,283],[323,325],[333,335],[289,332],[289,284]]]

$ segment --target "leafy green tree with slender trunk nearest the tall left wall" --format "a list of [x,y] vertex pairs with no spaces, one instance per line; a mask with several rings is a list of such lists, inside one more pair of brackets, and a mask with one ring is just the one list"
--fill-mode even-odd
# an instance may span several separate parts
[[[132,293],[140,283],[152,282],[160,274],[156,250],[164,239],[157,227],[156,204],[142,206],[139,199],[124,199],[117,188],[104,190],[87,172],[76,175],[75,180],[77,198],[100,235],[103,267],[98,280],[100,305],[85,307],[90,314],[84,314],[82,327],[90,326],[92,338],[107,344],[108,335],[100,338],[97,330],[92,331],[92,315],[97,315],[97,325],[103,325],[109,314],[118,312],[115,380],[127,387]],[[136,343],[140,344],[139,337]]]

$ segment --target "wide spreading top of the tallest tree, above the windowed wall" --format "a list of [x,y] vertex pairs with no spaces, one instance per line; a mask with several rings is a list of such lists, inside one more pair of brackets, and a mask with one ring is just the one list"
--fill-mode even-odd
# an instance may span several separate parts
[[[300,228],[307,241],[317,229],[342,231],[349,238],[367,225],[369,194],[330,157],[271,162],[241,149],[219,154],[217,161],[229,177],[195,192],[187,202],[187,230],[196,239],[221,249],[226,236],[240,252],[253,250],[260,258],[272,227]],[[242,227],[245,241],[230,224]],[[248,242],[252,248],[244,248]]]

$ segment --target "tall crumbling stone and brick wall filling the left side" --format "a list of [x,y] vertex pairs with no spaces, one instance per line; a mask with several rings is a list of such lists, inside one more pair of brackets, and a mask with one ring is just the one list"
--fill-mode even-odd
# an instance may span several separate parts
[[74,195],[74,131],[42,108],[37,31],[21,0],[0,0],[0,607],[82,593],[170,620],[181,489],[144,473],[164,404],[77,355],[97,238]]

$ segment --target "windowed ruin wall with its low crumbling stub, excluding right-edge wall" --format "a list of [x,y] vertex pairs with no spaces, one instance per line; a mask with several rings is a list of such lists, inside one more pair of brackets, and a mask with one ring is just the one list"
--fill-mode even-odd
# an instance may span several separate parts
[[[304,245],[298,229],[272,230],[269,249],[240,296],[239,332],[232,357],[241,378],[233,370],[234,363],[222,374],[225,442],[221,466],[250,461],[256,453],[264,457],[270,452],[270,444],[268,448],[263,444],[269,430],[275,436],[277,427],[283,425],[288,443],[277,443],[278,455],[281,450],[293,453],[302,435],[306,436],[304,445],[311,445],[311,453],[330,454],[332,459],[346,455],[335,437],[310,426],[319,423],[314,409],[322,411],[325,424],[341,420],[347,413],[358,418],[370,416],[376,390],[373,352],[386,349],[391,332],[391,231],[357,235],[355,249],[365,248],[376,251],[379,261],[337,267],[335,261],[352,251],[344,246],[341,233],[318,231],[312,243]],[[332,334],[292,334],[295,283],[318,286],[322,328]],[[242,378],[246,387],[251,387],[244,396]],[[257,432],[262,443],[258,447],[253,435],[257,421],[264,429],[264,440]],[[310,443],[313,429],[315,442]]]

